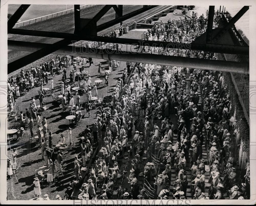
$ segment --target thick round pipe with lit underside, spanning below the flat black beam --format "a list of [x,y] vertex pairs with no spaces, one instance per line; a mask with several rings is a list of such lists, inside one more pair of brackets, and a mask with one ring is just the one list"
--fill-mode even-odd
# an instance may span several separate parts
[[[35,52],[49,44],[10,41],[8,49]],[[138,62],[157,65],[179,66],[194,69],[206,69],[214,71],[235,72],[249,74],[249,63],[231,62],[222,60],[198,59],[178,56],[166,56],[157,54],[131,53],[115,50],[86,49],[85,47],[62,46],[53,52],[60,55],[91,57],[105,60],[119,60],[124,62]],[[20,68],[20,67],[19,67]],[[17,69],[17,68],[15,68]]]

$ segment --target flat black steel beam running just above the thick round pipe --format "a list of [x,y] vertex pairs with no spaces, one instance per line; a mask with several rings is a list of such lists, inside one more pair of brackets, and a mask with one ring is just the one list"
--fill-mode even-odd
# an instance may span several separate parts
[[190,49],[190,50],[201,50],[207,52],[216,52],[224,54],[242,54],[249,55],[249,46],[232,46],[232,45],[218,45],[218,44],[183,44],[183,43],[172,43],[172,42],[160,42],[160,41],[147,41],[138,39],[125,39],[125,38],[113,38],[113,37],[100,37],[91,35],[79,35],[72,33],[61,33],[61,32],[49,32],[49,31],[37,31],[37,30],[26,30],[26,29],[12,29],[9,33],[38,36],[38,37],[51,37],[60,39],[73,39],[74,41],[87,40],[87,41],[98,41],[118,44],[136,44],[140,46],[157,46],[169,49]]

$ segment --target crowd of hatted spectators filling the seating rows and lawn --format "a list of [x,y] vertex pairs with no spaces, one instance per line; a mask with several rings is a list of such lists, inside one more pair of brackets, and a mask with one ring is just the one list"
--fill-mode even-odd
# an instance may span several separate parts
[[[147,39],[190,43],[204,32],[206,25],[204,18],[170,19],[165,28],[155,24],[149,29]],[[116,37],[120,35],[118,31],[114,33]],[[145,46],[143,52],[216,59],[214,53],[150,46]],[[98,93],[96,85],[91,88],[91,77],[83,66],[86,63],[91,65],[92,59],[81,61],[81,74],[73,64],[69,82],[80,87],[84,79],[82,91],[88,93],[85,108],[90,116],[92,92],[94,96]],[[109,62],[110,74],[113,64],[116,62]],[[99,71],[100,74],[100,63]],[[62,81],[63,108],[67,100],[72,110],[74,100],[71,101],[70,83],[66,86],[65,68]],[[11,88],[12,78],[9,82]],[[127,62],[113,89],[112,99],[99,107],[95,123],[86,126],[77,145],[80,153],[74,157],[73,169],[76,179],[70,182],[70,190],[80,191],[78,199],[244,199],[250,196],[249,162],[242,171],[237,164],[242,131],[229,112],[233,105],[222,72]],[[78,95],[77,92],[75,113],[81,107]],[[13,102],[14,94],[8,98]],[[33,98],[31,104],[35,104]],[[35,121],[40,124],[40,116]],[[63,153],[55,147],[46,148],[45,142],[50,144],[51,134],[47,140],[45,117],[42,130],[45,165],[54,172],[56,161],[57,170],[62,173]],[[67,133],[70,144],[71,128]],[[65,142],[61,136],[58,143]],[[93,144],[99,146],[98,159],[95,164],[87,165]],[[89,169],[85,178],[81,176],[84,167]],[[123,187],[127,180],[129,187]],[[35,196],[41,195],[38,181],[35,177]]]

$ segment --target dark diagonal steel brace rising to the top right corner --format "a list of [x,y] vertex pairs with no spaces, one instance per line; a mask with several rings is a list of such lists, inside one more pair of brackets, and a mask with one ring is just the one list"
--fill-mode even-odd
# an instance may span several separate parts
[[225,25],[221,31],[215,35],[215,37],[212,39],[213,43],[216,43],[230,28],[234,25],[243,15],[246,13],[246,11],[249,9],[249,6],[244,6],[238,13],[230,19],[230,21]]

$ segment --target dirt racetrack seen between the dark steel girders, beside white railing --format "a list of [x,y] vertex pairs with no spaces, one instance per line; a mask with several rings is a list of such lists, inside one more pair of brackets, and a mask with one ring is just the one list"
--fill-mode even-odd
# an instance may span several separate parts
[[[97,14],[104,5],[97,5],[90,8],[86,8],[80,11],[81,18],[92,18]],[[170,6],[157,6],[153,9],[150,9],[148,11],[145,11],[142,14],[139,14],[135,17],[132,17],[128,20],[123,21],[123,25],[131,24],[135,20],[139,21],[146,17],[149,17],[161,10],[164,10]],[[132,11],[135,11],[136,9],[142,8],[142,5],[124,5],[123,6],[123,15],[130,13]],[[100,25],[102,23],[108,22],[115,18],[115,11],[113,8],[111,8],[98,22],[97,24]],[[119,27],[119,24],[116,24],[112,27],[109,27],[108,29],[104,29],[101,32],[98,32],[98,35],[102,35],[104,33],[110,33],[113,28]],[[41,31],[55,31],[55,32],[66,32],[66,33],[73,33],[74,32],[74,14],[67,14],[63,16],[59,16],[56,18],[52,18],[49,20],[36,22],[34,24],[20,27],[20,29],[28,29],[28,30],[41,30]],[[46,37],[34,37],[34,36],[23,36],[23,35],[17,35],[17,34],[8,34],[9,40],[17,40],[17,41],[27,41],[27,42],[42,42],[42,43],[55,43],[59,41],[60,39],[56,38],[46,38]],[[25,55],[28,55],[30,52],[24,52],[24,51],[16,51],[16,50],[8,50],[8,63],[17,60]],[[25,69],[30,68],[30,66],[36,66],[40,65],[41,63],[48,61],[51,58],[52,55],[47,55],[45,57],[38,57],[38,60],[34,63],[31,63],[24,67]],[[42,58],[42,59],[40,59]],[[20,68],[21,69],[21,68]],[[12,76],[16,76],[20,69],[10,73]]]

